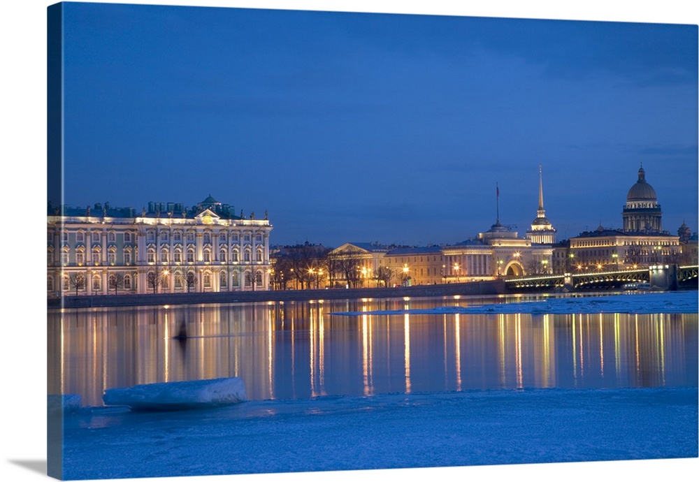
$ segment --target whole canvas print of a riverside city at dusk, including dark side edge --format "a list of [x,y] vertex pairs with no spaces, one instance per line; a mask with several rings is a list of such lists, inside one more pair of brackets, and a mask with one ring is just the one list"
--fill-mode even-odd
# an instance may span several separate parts
[[696,25],[46,13],[49,476],[698,457]]

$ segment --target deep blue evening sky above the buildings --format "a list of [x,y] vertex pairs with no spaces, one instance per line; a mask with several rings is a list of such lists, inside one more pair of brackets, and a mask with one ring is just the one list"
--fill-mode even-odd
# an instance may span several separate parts
[[66,3],[65,202],[194,205],[273,243],[621,227],[641,163],[698,231],[697,27]]

